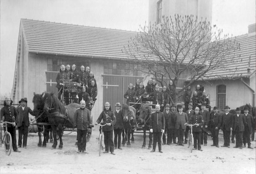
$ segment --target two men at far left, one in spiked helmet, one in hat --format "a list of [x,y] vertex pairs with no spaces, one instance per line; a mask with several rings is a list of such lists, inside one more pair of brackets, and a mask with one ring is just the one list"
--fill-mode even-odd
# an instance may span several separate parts
[[[19,101],[20,105],[15,108],[12,106],[13,101],[10,97],[6,97],[3,102],[3,108],[0,111],[0,120],[1,122],[11,122],[7,123],[7,131],[10,132],[12,137],[12,148],[15,152],[20,152],[18,148],[27,148],[27,134],[28,134],[28,127],[30,125],[29,122],[29,113],[31,115],[35,115],[34,112],[27,107],[27,100],[21,99]],[[19,132],[19,139],[18,139],[18,147],[17,147],[17,140],[16,140],[16,126]],[[6,130],[6,127],[4,127]]]

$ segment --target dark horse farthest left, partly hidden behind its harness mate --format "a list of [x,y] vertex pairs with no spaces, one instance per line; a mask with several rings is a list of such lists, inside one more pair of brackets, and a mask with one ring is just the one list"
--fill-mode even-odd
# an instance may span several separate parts
[[[37,123],[48,123],[48,118],[47,118],[47,114],[45,112],[43,112],[43,93],[42,94],[36,94],[34,93],[34,97],[33,97],[33,104],[34,104],[34,108],[33,108],[33,113],[35,114],[35,121]],[[51,131],[51,126],[50,125],[45,125],[44,126],[44,131],[43,131],[43,126],[42,125],[37,125],[38,128],[38,137],[39,137],[39,142],[38,142],[38,146],[39,147],[46,147],[46,142],[48,141],[47,138],[49,137],[49,131]],[[43,145],[42,145],[42,132],[43,132]]]

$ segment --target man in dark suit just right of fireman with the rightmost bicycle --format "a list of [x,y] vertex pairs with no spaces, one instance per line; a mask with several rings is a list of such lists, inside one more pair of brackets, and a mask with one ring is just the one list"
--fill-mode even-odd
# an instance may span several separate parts
[[207,132],[209,130],[209,122],[210,122],[210,113],[206,110],[206,104],[203,103],[201,106],[202,110],[200,111],[200,115],[203,117],[203,126],[202,126],[202,134],[201,134],[201,145],[207,145]]

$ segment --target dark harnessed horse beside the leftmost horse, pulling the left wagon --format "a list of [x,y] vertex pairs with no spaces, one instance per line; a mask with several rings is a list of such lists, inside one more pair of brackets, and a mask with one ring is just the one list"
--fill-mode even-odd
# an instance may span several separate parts
[[80,108],[77,103],[71,103],[66,107],[53,93],[45,93],[43,97],[43,111],[47,113],[48,121],[53,130],[53,148],[57,146],[57,134],[60,139],[59,149],[63,148],[62,132],[65,127],[74,128],[74,113]]

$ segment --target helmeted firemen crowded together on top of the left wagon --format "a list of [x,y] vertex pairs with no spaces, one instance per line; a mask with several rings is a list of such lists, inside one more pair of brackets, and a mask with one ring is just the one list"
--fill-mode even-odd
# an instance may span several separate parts
[[[56,77],[58,88],[58,98],[61,98],[61,94],[63,93],[63,98],[65,100],[66,105],[70,103],[71,99],[78,98],[80,102],[82,99],[86,102],[86,107],[89,106],[89,103],[96,100],[97,96],[97,84],[96,79],[94,78],[94,74],[90,71],[90,67],[84,68],[84,66],[80,66],[80,71],[76,71],[76,65],[72,65],[72,69],[70,70],[70,65],[67,64],[66,67],[64,65],[60,66],[60,72]],[[65,85],[67,82],[73,82],[80,89],[81,92],[70,92],[68,89],[65,90]],[[63,91],[64,89],[64,91]],[[70,95],[69,95],[70,94]],[[71,96],[71,97],[70,97]]]

